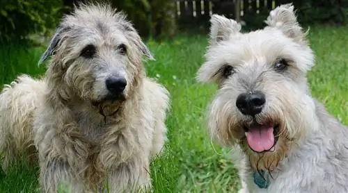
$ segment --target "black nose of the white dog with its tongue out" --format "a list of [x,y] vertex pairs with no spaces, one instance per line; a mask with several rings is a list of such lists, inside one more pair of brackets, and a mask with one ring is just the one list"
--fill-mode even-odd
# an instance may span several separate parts
[[236,106],[244,115],[258,115],[266,102],[264,94],[256,91],[250,94],[239,94],[236,101]]

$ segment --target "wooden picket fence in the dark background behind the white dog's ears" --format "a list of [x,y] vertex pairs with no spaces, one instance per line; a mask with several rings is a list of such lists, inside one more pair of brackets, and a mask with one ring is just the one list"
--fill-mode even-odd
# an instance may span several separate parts
[[[207,24],[209,17],[216,13],[226,17],[244,20],[248,15],[269,12],[289,0],[175,0],[176,16],[180,25]],[[265,18],[264,18],[265,19]]]

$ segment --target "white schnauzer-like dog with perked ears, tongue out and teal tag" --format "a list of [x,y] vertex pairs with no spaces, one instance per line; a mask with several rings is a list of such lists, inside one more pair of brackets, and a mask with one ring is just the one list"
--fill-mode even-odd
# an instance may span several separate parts
[[348,128],[308,88],[315,56],[292,3],[262,29],[212,15],[200,83],[215,83],[209,135],[232,147],[239,192],[348,192]]

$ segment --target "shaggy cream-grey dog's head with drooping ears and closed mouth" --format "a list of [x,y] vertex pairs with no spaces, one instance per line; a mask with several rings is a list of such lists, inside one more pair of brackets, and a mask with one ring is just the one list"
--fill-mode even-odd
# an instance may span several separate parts
[[80,5],[63,18],[39,63],[52,56],[49,87],[63,100],[99,106],[127,100],[144,76],[143,55],[153,59],[122,12]]

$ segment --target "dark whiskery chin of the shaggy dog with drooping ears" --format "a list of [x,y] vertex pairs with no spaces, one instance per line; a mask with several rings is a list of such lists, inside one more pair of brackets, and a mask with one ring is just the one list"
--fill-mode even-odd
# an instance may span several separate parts
[[125,101],[125,94],[108,94],[102,99],[92,100],[91,103],[98,108],[100,115],[108,117],[115,115]]

